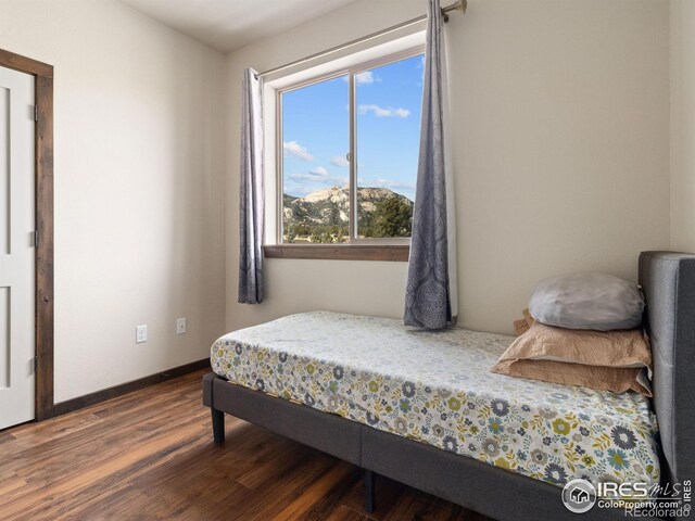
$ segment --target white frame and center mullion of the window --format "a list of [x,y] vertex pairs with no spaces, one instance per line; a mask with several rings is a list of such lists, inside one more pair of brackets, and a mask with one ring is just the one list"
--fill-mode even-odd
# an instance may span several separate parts
[[[356,63],[349,67],[343,67],[338,71],[332,71],[327,74],[312,76],[308,79],[304,79],[302,81],[298,81],[294,84],[290,84],[283,86],[282,88],[278,88],[275,91],[275,161],[276,161],[276,230],[277,237],[275,238],[276,244],[286,245],[291,244],[293,246],[303,246],[308,244],[302,243],[287,243],[282,241],[283,236],[283,211],[285,211],[285,179],[283,179],[283,163],[285,163],[285,152],[282,150],[283,136],[282,136],[282,94],[287,92],[291,92],[293,90],[302,89],[305,87],[309,87],[315,84],[319,84],[321,81],[326,81],[329,79],[338,78],[341,76],[348,76],[348,85],[349,85],[349,98],[350,98],[350,139],[349,139],[349,154],[350,154],[350,215],[349,215],[349,232],[348,232],[348,242],[345,245],[366,245],[366,244],[410,244],[410,238],[358,238],[356,237],[357,232],[357,217],[358,212],[355,212],[357,206],[357,85],[355,81],[355,76],[359,73],[364,73],[366,71],[370,71],[372,68],[381,67],[384,65],[389,65],[391,63],[400,62],[402,60],[407,60],[408,58],[417,56],[419,54],[425,53],[425,46],[418,45],[415,47],[410,47],[408,49],[393,52],[390,54],[386,54],[378,59],[368,60],[364,62]],[[330,244],[327,244],[330,245]]]

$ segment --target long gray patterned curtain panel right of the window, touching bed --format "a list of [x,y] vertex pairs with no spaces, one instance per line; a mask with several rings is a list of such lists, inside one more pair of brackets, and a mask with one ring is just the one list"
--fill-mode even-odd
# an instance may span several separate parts
[[443,119],[445,58],[442,31],[440,2],[429,0],[420,157],[404,316],[406,326],[426,329],[442,329],[452,321]]

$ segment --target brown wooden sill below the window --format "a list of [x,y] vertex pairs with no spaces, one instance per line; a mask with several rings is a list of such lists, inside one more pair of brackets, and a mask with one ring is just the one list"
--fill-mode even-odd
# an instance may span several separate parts
[[266,258],[327,260],[391,260],[406,263],[408,244],[274,244],[263,246]]

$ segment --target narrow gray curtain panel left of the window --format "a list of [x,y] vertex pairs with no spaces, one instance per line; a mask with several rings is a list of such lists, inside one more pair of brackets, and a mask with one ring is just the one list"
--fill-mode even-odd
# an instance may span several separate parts
[[243,72],[239,190],[239,302],[263,302],[263,98],[262,80]]

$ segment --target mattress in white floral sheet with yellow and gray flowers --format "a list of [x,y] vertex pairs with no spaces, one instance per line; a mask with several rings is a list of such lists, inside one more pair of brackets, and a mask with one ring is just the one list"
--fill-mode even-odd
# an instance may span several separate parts
[[514,338],[304,313],[211,350],[229,382],[564,485],[659,481],[649,401],[490,372]]

